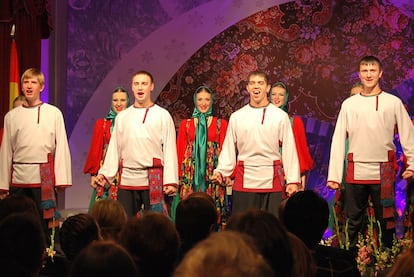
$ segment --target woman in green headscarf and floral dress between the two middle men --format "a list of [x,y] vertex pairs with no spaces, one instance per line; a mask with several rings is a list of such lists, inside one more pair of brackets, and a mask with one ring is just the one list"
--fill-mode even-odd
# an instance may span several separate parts
[[181,199],[193,192],[210,195],[218,212],[218,229],[226,224],[226,187],[211,181],[217,166],[218,156],[227,131],[228,122],[213,116],[213,91],[201,86],[194,92],[194,112],[190,119],[180,124],[177,137],[179,189],[174,197],[171,215],[175,220],[175,209]]

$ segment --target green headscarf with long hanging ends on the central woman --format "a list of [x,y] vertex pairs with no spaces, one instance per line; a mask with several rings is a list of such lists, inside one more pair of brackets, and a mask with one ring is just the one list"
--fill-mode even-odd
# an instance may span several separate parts
[[[200,112],[197,108],[197,94],[201,91],[206,91],[211,95],[210,107],[205,113]],[[206,86],[198,87],[194,92],[193,100],[194,111],[192,117],[198,119],[193,150],[193,160],[195,161],[193,190],[206,191],[207,117],[211,116],[213,112],[213,91]]]

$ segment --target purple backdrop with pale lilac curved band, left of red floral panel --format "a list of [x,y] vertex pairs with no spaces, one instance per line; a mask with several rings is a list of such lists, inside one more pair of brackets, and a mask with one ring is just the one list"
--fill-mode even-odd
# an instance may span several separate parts
[[65,16],[58,17],[59,26],[67,27],[67,58],[59,66],[67,73],[63,113],[76,184],[67,191],[65,206],[82,208],[89,203],[91,190],[83,165],[95,120],[108,113],[114,87],[129,89],[131,74],[146,69],[156,80],[155,100],[179,67],[207,41],[243,18],[285,2],[57,1],[59,10],[67,10],[67,21]]

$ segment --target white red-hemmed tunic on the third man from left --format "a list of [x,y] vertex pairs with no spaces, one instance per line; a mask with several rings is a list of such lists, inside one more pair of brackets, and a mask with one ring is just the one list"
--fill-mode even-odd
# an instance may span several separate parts
[[261,108],[248,104],[230,116],[215,172],[228,177],[233,171],[233,191],[281,192],[285,184],[300,184],[295,139],[286,112],[272,104]]

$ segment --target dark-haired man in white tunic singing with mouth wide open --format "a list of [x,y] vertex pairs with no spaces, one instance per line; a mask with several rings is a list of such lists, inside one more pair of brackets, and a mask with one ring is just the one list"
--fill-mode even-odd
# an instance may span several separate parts
[[266,74],[251,73],[246,89],[250,102],[230,116],[213,179],[234,175],[232,213],[259,208],[277,216],[282,191],[299,189],[295,140],[288,114],[269,102]]

